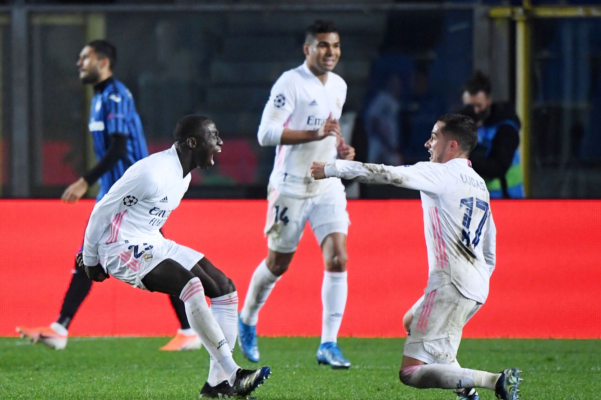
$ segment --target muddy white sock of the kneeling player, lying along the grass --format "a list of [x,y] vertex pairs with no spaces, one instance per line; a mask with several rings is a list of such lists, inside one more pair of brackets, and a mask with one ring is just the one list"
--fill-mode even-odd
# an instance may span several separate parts
[[500,374],[477,369],[461,368],[448,364],[415,365],[401,370],[401,381],[418,389],[458,389],[461,387],[485,387],[495,390]]

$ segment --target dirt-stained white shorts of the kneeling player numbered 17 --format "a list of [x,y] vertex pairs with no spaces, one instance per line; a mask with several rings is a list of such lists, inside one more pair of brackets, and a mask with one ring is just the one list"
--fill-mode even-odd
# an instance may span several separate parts
[[453,284],[426,293],[420,300],[403,355],[427,364],[454,362],[463,326],[481,304],[463,296]]

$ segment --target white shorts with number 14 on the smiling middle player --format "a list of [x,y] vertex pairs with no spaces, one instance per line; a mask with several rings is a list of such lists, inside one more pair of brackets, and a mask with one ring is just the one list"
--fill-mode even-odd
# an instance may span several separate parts
[[267,246],[273,251],[296,251],[307,220],[319,245],[328,234],[347,234],[349,231],[350,220],[344,188],[335,188],[307,199],[296,199],[279,193],[269,185],[267,200],[264,233],[267,236]]

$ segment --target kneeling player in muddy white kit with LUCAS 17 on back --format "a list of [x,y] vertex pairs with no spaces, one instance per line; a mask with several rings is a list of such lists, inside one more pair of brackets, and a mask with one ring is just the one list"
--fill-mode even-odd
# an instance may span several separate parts
[[462,399],[478,399],[474,387],[484,387],[499,399],[517,400],[521,371],[510,368],[492,374],[461,368],[456,359],[463,326],[486,301],[495,269],[496,228],[489,192],[468,160],[477,140],[471,118],[447,114],[438,119],[426,142],[430,162],[400,167],[316,162],[311,175],[421,192],[429,279],[413,312],[400,380],[419,389],[455,389]]

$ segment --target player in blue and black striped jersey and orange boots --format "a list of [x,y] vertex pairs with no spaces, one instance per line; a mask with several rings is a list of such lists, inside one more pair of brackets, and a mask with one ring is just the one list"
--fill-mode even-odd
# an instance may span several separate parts
[[[76,64],[79,79],[84,85],[94,87],[88,128],[93,137],[98,163],[67,187],[61,196],[61,200],[67,203],[81,199],[96,182],[99,182],[100,187],[96,201],[100,201],[130,166],[148,155],[142,123],[132,94],[113,76],[116,61],[117,50],[106,40],[91,41],[79,53]],[[75,264],[57,320],[44,327],[19,326],[16,328],[17,332],[34,343],[41,342],[62,350],[67,345],[69,325],[90,293],[91,286],[88,276]],[[169,300],[181,327],[177,335],[161,350],[200,348],[202,344],[188,323],[182,300],[177,296],[170,296]]]

